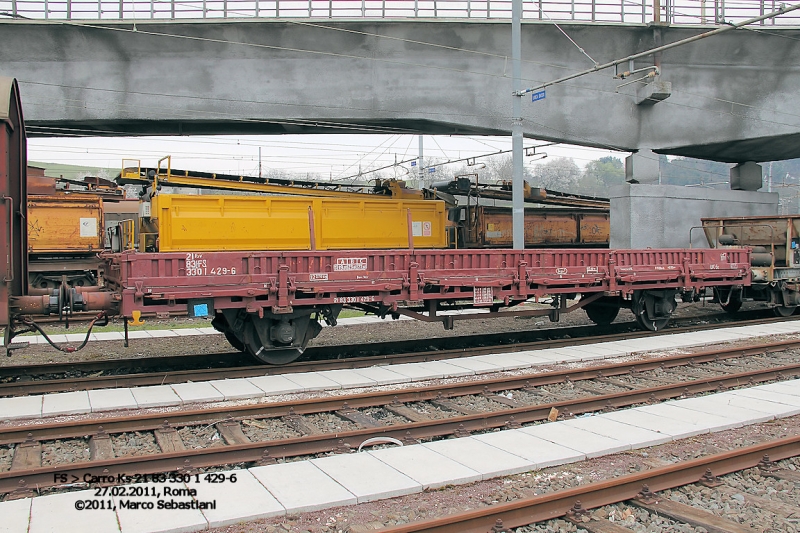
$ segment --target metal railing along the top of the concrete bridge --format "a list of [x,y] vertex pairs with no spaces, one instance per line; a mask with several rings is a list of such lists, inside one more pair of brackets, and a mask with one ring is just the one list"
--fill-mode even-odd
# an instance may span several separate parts
[[[524,0],[523,19],[720,25],[775,11],[776,0]],[[512,0],[0,0],[0,13],[35,20],[470,19],[510,20]],[[800,15],[761,21],[800,25]]]

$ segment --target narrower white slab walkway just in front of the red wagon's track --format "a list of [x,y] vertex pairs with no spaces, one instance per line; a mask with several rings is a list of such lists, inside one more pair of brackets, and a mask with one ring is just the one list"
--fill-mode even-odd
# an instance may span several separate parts
[[714,331],[676,333],[569,348],[462,357],[447,361],[384,364],[368,368],[325,370],[251,378],[221,379],[150,387],[97,389],[14,398],[0,398],[0,420],[20,420],[129,409],[179,407],[310,391],[353,389],[456,378],[491,372],[531,369],[628,356],[657,350],[678,350],[772,335],[800,333],[800,321],[739,326]]

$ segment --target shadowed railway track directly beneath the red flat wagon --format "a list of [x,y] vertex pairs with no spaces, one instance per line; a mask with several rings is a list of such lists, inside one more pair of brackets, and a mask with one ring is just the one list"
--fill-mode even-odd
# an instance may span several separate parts
[[[795,320],[793,318],[759,318],[737,321],[737,325],[755,325]],[[749,316],[749,315],[748,315]],[[710,317],[704,317],[707,322]],[[309,348],[308,361],[283,366],[249,364],[244,354],[221,353],[163,358],[84,361],[27,366],[0,367],[0,397],[93,390],[117,387],[142,387],[233,379],[263,375],[352,369],[374,366],[378,362],[393,364],[447,360],[466,355],[508,353],[588,344],[625,339],[648,338],[692,331],[707,331],[714,324],[692,324],[697,318],[683,319],[687,325],[658,333],[634,329],[634,323],[614,324],[597,335],[597,326],[578,326],[553,330],[474,335],[458,339],[438,338],[393,341],[370,344],[370,355],[361,355],[363,345],[320,346]]]

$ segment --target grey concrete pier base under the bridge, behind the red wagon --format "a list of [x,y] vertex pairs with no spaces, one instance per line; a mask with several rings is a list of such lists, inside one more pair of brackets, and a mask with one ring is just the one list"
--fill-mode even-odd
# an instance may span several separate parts
[[[688,248],[701,218],[778,213],[778,193],[767,192],[626,184],[610,198],[611,248]],[[702,230],[692,231],[691,245],[708,248]]]

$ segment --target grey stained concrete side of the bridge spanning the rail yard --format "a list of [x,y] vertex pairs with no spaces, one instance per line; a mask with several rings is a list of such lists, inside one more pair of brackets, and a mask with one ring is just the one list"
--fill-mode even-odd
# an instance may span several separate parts
[[[598,63],[708,29],[562,27]],[[549,87],[524,100],[525,135],[727,162],[800,157],[800,29],[769,32],[664,52],[672,95],[655,105],[636,104],[637,84],[617,90],[612,70]],[[510,131],[505,21],[9,20],[0,34],[0,75],[19,79],[31,136]],[[550,23],[522,34],[526,86],[591,66]]]

